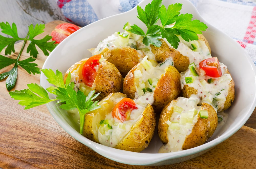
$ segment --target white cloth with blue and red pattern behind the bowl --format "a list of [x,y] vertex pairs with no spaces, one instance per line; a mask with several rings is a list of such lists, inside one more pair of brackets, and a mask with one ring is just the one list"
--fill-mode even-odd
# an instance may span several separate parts
[[[123,13],[143,0],[56,0],[65,18],[86,26]],[[202,18],[237,41],[256,66],[256,0],[189,0]]]

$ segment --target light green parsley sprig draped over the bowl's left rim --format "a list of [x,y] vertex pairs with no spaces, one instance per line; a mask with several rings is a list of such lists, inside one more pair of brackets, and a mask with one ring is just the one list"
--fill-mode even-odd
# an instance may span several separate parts
[[[56,70],[56,73],[51,69],[41,69],[41,71],[48,78],[48,82],[54,86],[44,89],[36,83],[30,83],[27,84],[28,89],[11,91],[9,95],[15,100],[20,100],[19,104],[25,106],[25,109],[57,100],[56,104],[61,103],[59,107],[63,110],[68,111],[77,108],[80,115],[80,134],[83,134],[84,115],[100,108],[100,106],[97,105],[99,101],[92,101],[97,98],[100,93],[94,94],[95,91],[93,90],[86,96],[80,90],[76,92],[74,90],[74,82],[70,82],[70,73],[68,74],[65,84],[60,71]],[[56,98],[50,99],[47,91],[55,94]]]

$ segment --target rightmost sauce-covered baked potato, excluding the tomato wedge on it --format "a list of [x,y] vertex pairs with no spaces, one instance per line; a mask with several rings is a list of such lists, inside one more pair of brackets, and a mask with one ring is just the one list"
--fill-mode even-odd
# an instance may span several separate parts
[[[220,77],[206,75],[200,66],[196,67],[196,71],[199,72],[198,76],[193,76],[189,69],[182,73],[183,96],[187,98],[191,96],[198,97],[201,102],[211,104],[217,112],[229,108],[235,98],[235,83],[228,68],[222,63],[220,63],[220,67],[222,72]],[[188,77],[193,79],[191,83],[186,82],[186,78]]]

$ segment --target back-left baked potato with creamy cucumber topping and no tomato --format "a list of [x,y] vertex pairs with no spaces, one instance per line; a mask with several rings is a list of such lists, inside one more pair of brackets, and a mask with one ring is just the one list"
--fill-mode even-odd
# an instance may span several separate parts
[[[134,35],[131,32],[124,31],[123,33],[115,32],[111,36],[102,40],[98,46],[89,51],[95,54],[102,54],[104,58],[113,63],[120,71],[123,77],[146,55],[144,51],[137,50],[140,48],[138,39],[141,36]],[[138,38],[140,37],[140,38]],[[150,49],[148,49],[150,50]]]

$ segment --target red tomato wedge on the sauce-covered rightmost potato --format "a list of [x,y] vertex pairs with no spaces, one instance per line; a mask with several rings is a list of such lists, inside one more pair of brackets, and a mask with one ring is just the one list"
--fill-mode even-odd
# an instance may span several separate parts
[[217,57],[211,57],[204,59],[199,63],[201,69],[205,71],[205,74],[210,77],[221,77],[220,63]]

